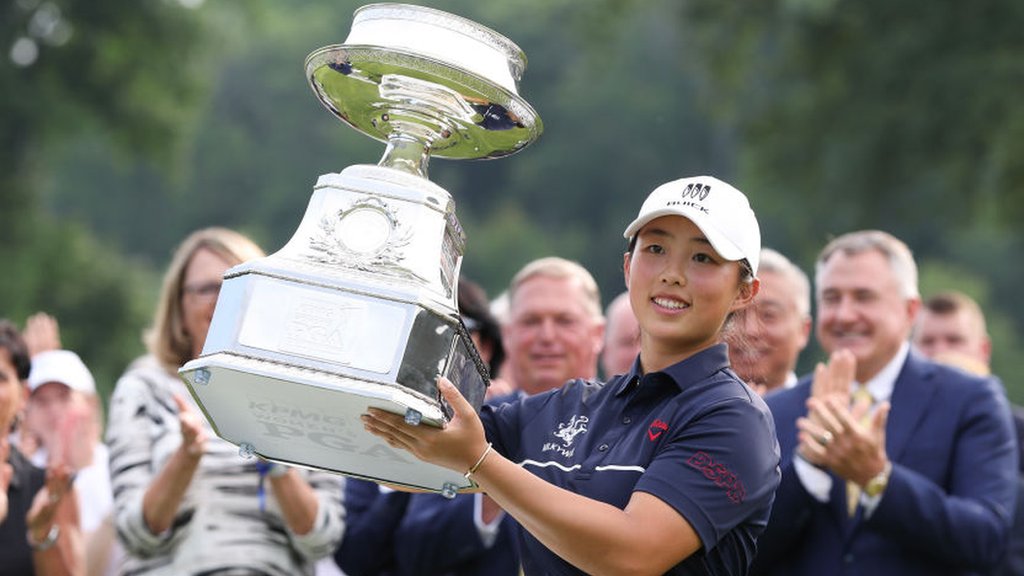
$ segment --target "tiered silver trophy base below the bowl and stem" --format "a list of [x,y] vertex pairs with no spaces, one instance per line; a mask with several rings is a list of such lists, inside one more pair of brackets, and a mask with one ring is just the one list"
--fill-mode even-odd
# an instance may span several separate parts
[[429,180],[379,166],[322,176],[292,241],[225,273],[203,354],[179,373],[243,453],[454,495],[472,483],[359,416],[442,426],[438,376],[479,410],[486,367],[455,301],[462,243]]

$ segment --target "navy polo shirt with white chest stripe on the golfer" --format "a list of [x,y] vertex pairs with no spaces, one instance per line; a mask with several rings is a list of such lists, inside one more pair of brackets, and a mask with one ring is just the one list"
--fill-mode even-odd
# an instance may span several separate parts
[[[602,385],[571,380],[484,407],[506,458],[571,492],[625,508],[635,491],[679,511],[702,547],[669,574],[745,574],[768,524],[779,451],[768,407],[716,344],[660,372],[639,362]],[[526,574],[583,574],[519,529]]]

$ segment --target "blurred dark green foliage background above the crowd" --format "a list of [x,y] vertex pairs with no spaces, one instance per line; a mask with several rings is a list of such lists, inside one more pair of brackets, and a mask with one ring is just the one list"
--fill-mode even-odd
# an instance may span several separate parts
[[[1024,402],[1024,3],[422,3],[514,40],[529,60],[520,93],[545,123],[511,158],[431,164],[467,231],[463,274],[492,295],[558,254],[609,301],[642,199],[712,173],[748,193],[765,245],[805,270],[844,232],[903,238],[925,295],[981,301],[994,369]],[[383,152],[303,73],[309,52],[344,41],[359,2],[193,4],[0,3],[5,50],[39,49],[29,66],[0,61],[0,316],[54,314],[104,393],[141,353],[185,234],[232,227],[272,252],[319,174]]]

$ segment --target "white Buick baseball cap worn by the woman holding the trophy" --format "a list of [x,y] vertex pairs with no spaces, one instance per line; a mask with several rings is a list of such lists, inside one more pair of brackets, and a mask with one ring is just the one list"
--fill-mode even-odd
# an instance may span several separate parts
[[666,182],[650,193],[640,214],[623,233],[627,239],[662,216],[689,218],[727,260],[746,259],[758,274],[761,229],[743,193],[714,176],[694,176]]

